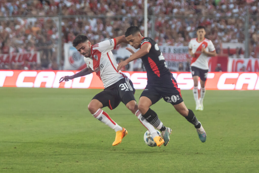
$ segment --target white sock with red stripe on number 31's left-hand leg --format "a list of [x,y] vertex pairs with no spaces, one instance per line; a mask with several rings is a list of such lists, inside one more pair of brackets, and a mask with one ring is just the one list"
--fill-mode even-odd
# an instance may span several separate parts
[[114,129],[115,132],[122,130],[122,127],[120,127],[116,122],[114,122],[111,117],[104,112],[102,109],[98,109],[96,113],[92,114],[93,117],[95,117],[97,120],[102,121],[104,124],[109,126],[110,128]]

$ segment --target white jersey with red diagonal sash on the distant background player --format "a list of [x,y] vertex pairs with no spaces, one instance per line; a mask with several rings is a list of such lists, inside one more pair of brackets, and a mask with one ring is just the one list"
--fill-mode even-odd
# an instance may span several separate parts
[[207,52],[214,52],[215,47],[212,43],[211,40],[208,40],[204,38],[201,42],[197,41],[197,38],[191,39],[189,42],[189,49],[192,50],[194,53],[195,57],[192,58],[191,61],[191,66],[203,69],[203,70],[208,70],[208,61],[207,61],[207,55],[202,53],[202,47],[205,48]]

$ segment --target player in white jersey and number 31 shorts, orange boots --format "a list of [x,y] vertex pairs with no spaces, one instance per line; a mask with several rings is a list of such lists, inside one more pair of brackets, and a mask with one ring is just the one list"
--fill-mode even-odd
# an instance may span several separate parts
[[97,120],[102,121],[115,130],[116,137],[112,145],[116,146],[121,143],[121,140],[128,132],[125,128],[113,121],[102,108],[107,106],[111,110],[115,109],[122,101],[126,107],[138,117],[143,126],[149,130],[157,146],[160,147],[164,143],[164,140],[157,134],[154,126],[147,122],[138,110],[132,81],[120,70],[117,70],[118,64],[111,50],[115,49],[116,45],[122,42],[128,43],[125,36],[119,36],[92,45],[87,36],[77,36],[73,41],[73,46],[84,56],[87,67],[72,76],[60,78],[60,82],[96,72],[97,76],[99,76],[103,82],[104,91],[93,97],[88,105],[88,110]]

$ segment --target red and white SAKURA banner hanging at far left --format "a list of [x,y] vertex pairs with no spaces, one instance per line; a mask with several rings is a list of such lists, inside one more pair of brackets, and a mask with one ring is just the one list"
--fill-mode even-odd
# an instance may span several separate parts
[[40,63],[40,53],[39,52],[25,52],[25,53],[8,53],[0,54],[0,64],[7,63],[18,63],[23,64],[25,60],[30,63]]

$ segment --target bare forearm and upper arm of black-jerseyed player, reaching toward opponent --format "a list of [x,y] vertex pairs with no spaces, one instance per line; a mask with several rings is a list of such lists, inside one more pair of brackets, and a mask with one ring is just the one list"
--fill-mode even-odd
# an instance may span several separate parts
[[[122,67],[124,67],[125,65],[127,65],[129,62],[135,60],[135,59],[138,59],[138,58],[141,58],[143,57],[144,55],[148,54],[149,53],[149,50],[151,48],[151,44],[143,44],[141,49],[139,49],[138,51],[136,51],[135,53],[133,53],[131,55],[130,58],[126,59],[125,61],[122,61],[118,67],[117,67],[117,70],[120,70]],[[132,53],[132,51],[130,51]],[[134,52],[134,51],[133,51]]]

